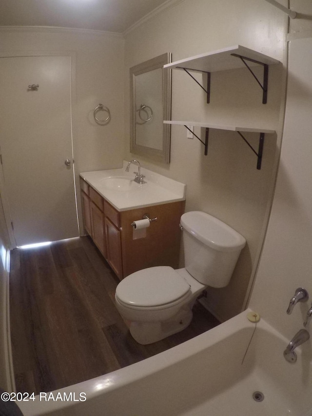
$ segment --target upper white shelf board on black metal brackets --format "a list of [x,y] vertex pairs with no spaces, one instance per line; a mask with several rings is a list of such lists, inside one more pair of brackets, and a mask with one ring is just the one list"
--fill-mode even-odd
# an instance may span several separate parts
[[[256,52],[244,46],[236,45],[228,48],[219,49],[214,52],[208,52],[196,55],[191,58],[177,60],[164,65],[164,68],[189,69],[202,72],[225,71],[228,69],[244,68],[245,64],[241,59],[232,56],[237,54],[248,59],[261,62],[266,65],[279,63],[279,60],[268,57],[267,55]],[[257,65],[256,62],[249,62],[250,66]]]

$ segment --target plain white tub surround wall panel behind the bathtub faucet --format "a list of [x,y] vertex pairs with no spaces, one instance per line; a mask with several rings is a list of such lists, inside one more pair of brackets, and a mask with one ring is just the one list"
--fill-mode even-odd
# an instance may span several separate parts
[[[311,14],[312,3],[310,9]],[[312,296],[311,48],[312,33],[310,38],[292,40],[289,44],[287,103],[280,168],[250,300],[253,308],[289,338],[302,328]],[[297,287],[304,287],[310,299],[297,304],[292,315],[288,316],[286,309]],[[267,294],[276,291],[277,301],[269,301]],[[310,335],[311,329],[310,324]]]

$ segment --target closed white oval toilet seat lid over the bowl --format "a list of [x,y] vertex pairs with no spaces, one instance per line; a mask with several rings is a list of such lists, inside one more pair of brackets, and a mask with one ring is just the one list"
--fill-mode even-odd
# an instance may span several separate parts
[[191,295],[190,284],[172,267],[156,266],[125,277],[116,289],[117,300],[127,308],[169,308]]

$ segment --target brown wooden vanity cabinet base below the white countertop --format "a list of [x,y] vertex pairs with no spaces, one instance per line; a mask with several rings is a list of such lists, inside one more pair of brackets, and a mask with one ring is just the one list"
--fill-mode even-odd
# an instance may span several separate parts
[[[120,280],[147,267],[178,268],[185,201],[119,212],[82,179],[80,187],[84,228]],[[145,214],[157,221],[141,237],[131,223]]]

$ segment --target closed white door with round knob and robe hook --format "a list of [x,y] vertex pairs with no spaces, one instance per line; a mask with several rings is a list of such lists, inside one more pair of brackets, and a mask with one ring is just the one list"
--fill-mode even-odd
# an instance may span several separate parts
[[77,237],[70,56],[0,58],[0,150],[17,246]]

